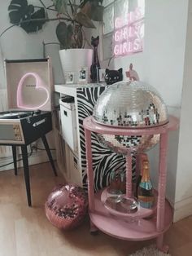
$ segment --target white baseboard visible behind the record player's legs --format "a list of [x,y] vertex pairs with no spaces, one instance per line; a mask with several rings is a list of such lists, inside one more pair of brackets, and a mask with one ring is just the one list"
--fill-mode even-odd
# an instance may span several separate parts
[[[53,159],[55,160],[56,159],[55,151],[52,151],[51,155],[52,155]],[[4,166],[7,163],[10,163],[12,161],[13,161],[12,157],[5,157],[5,158],[0,159],[0,166],[3,166],[3,167],[0,167],[0,171],[14,169],[13,163],[8,166]],[[37,152],[33,152],[33,154],[30,157],[28,157],[28,165],[29,166],[37,165],[37,164],[40,164],[40,163],[43,163],[46,161],[49,161],[49,158],[47,157],[46,151],[44,151],[44,150],[42,150],[42,151],[37,150]],[[18,168],[23,167],[23,161],[18,161],[17,166],[18,166]]]

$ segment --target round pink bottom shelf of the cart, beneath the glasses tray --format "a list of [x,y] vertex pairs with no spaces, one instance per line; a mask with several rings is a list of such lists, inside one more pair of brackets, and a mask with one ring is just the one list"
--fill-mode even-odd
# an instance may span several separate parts
[[91,222],[99,230],[109,236],[114,236],[129,241],[144,241],[155,238],[166,232],[172,224],[172,207],[165,201],[164,229],[162,232],[156,230],[156,214],[151,218],[120,218],[109,213],[101,201],[103,191],[94,195],[95,210],[90,212]]

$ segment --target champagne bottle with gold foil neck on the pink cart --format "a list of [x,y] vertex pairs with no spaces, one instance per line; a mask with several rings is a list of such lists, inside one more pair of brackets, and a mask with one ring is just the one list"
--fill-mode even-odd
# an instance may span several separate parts
[[138,185],[137,198],[143,208],[151,209],[155,202],[154,189],[151,184],[149,161],[142,162],[142,179]]

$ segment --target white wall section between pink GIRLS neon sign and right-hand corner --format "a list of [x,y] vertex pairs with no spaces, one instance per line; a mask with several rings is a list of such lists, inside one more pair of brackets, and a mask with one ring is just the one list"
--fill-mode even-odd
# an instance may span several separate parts
[[146,0],[144,51],[118,57],[115,68],[137,70],[166,104],[181,106],[188,0]]

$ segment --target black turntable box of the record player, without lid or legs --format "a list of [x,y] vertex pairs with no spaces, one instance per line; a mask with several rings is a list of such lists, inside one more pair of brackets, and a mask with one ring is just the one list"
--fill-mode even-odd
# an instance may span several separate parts
[[11,110],[0,113],[0,143],[32,143],[52,130],[49,111]]

